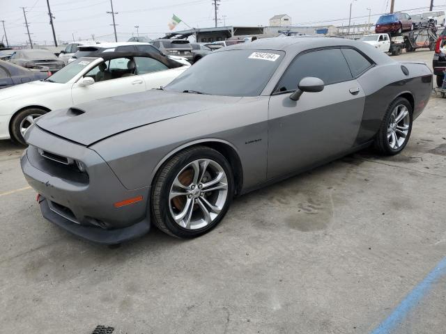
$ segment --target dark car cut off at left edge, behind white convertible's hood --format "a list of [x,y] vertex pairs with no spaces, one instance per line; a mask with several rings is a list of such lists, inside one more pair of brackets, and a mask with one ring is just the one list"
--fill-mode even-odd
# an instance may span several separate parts
[[50,72],[32,71],[8,61],[0,61],[0,88],[43,80],[49,75],[51,75]]

